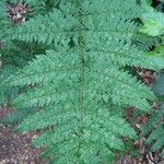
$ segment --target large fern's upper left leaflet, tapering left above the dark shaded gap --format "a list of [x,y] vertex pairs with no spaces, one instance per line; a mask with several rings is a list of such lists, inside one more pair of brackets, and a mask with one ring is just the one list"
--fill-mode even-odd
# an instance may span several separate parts
[[39,44],[58,45],[62,40],[68,44],[70,42],[69,37],[72,36],[72,34],[68,35],[68,31],[73,30],[75,19],[72,16],[63,19],[65,16],[62,12],[55,10],[52,13],[31,19],[22,26],[14,28],[14,33],[10,31],[5,35],[10,35],[11,39],[27,43],[37,42]]

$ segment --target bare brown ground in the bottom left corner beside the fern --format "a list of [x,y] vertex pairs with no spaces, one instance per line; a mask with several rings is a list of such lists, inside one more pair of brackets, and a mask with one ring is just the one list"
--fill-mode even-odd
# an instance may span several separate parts
[[[9,108],[0,109],[0,119],[10,114]],[[0,124],[0,164],[47,164],[38,156],[40,149],[32,149],[30,143],[36,133],[16,133],[14,127]]]

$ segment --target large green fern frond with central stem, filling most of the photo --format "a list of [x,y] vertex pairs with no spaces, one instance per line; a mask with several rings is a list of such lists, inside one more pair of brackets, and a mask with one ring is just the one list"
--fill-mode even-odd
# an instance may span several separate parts
[[[34,144],[55,164],[112,163],[115,152],[125,150],[124,138],[137,139],[124,108],[145,113],[155,98],[128,71],[156,69],[137,44],[139,5],[131,0],[28,3],[45,5],[35,5],[28,21],[2,37],[20,48],[13,49],[21,58],[32,55],[1,84],[21,90],[12,101],[19,113],[10,118],[21,121],[20,131],[43,131]],[[5,49],[2,54],[9,61]]]

